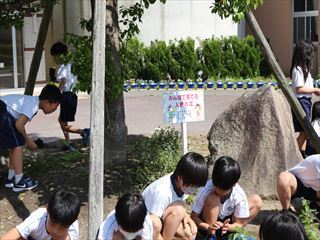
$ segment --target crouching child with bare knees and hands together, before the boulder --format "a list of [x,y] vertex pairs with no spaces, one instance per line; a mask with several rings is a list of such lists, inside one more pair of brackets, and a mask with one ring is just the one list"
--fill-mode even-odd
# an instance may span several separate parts
[[198,192],[191,218],[199,228],[198,237],[220,237],[243,227],[260,211],[258,195],[248,199],[237,184],[241,175],[239,163],[230,157],[219,158],[213,167],[212,180]]

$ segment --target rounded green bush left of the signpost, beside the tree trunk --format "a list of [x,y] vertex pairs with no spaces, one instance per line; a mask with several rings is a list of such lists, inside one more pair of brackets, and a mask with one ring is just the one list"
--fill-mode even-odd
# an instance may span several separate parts
[[172,127],[158,128],[150,138],[137,142],[134,149],[134,182],[145,187],[175,169],[182,156],[181,134]]

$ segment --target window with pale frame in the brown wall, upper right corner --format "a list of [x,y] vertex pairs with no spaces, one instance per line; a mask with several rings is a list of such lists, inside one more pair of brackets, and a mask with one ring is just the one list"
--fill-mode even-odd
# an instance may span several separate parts
[[293,44],[318,42],[318,0],[293,0]]

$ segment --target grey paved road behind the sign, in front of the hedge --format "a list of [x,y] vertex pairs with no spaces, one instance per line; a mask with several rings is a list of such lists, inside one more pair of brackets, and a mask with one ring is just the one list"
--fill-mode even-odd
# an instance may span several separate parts
[[[41,87],[35,89],[38,95]],[[22,93],[22,89],[0,90],[0,95]],[[227,109],[245,90],[207,90],[205,91],[205,121],[188,123],[189,134],[206,134],[216,117]],[[250,90],[247,90],[250,91]],[[162,94],[157,90],[133,90],[124,94],[126,124],[129,134],[150,134],[156,127],[165,126],[162,117]],[[42,111],[27,124],[27,132],[41,137],[44,141],[63,138],[58,124],[59,109],[44,115]],[[79,94],[76,122],[80,128],[90,125],[90,97],[85,93]],[[174,124],[180,128],[179,124]],[[72,134],[71,138],[79,138]]]

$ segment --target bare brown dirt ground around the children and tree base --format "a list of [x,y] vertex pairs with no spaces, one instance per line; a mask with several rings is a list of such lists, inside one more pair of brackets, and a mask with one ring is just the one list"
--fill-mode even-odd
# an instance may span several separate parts
[[[143,136],[129,136],[128,144]],[[39,186],[32,191],[15,193],[3,186],[7,168],[4,158],[0,164],[0,236],[37,209],[44,206],[52,191],[68,189],[81,199],[82,207],[79,216],[81,239],[87,239],[88,221],[88,149],[81,149],[80,142],[75,141],[78,151],[62,150],[63,144],[55,142],[47,144],[43,149],[34,152],[25,151],[25,172],[39,181]],[[208,142],[205,135],[189,136],[190,151],[208,156]],[[115,207],[117,198],[126,191],[138,191],[128,182],[126,166],[110,166],[105,169],[104,181],[104,216]],[[247,230],[257,236],[259,224],[272,211],[280,209],[276,200],[265,200],[261,214],[249,224]]]

